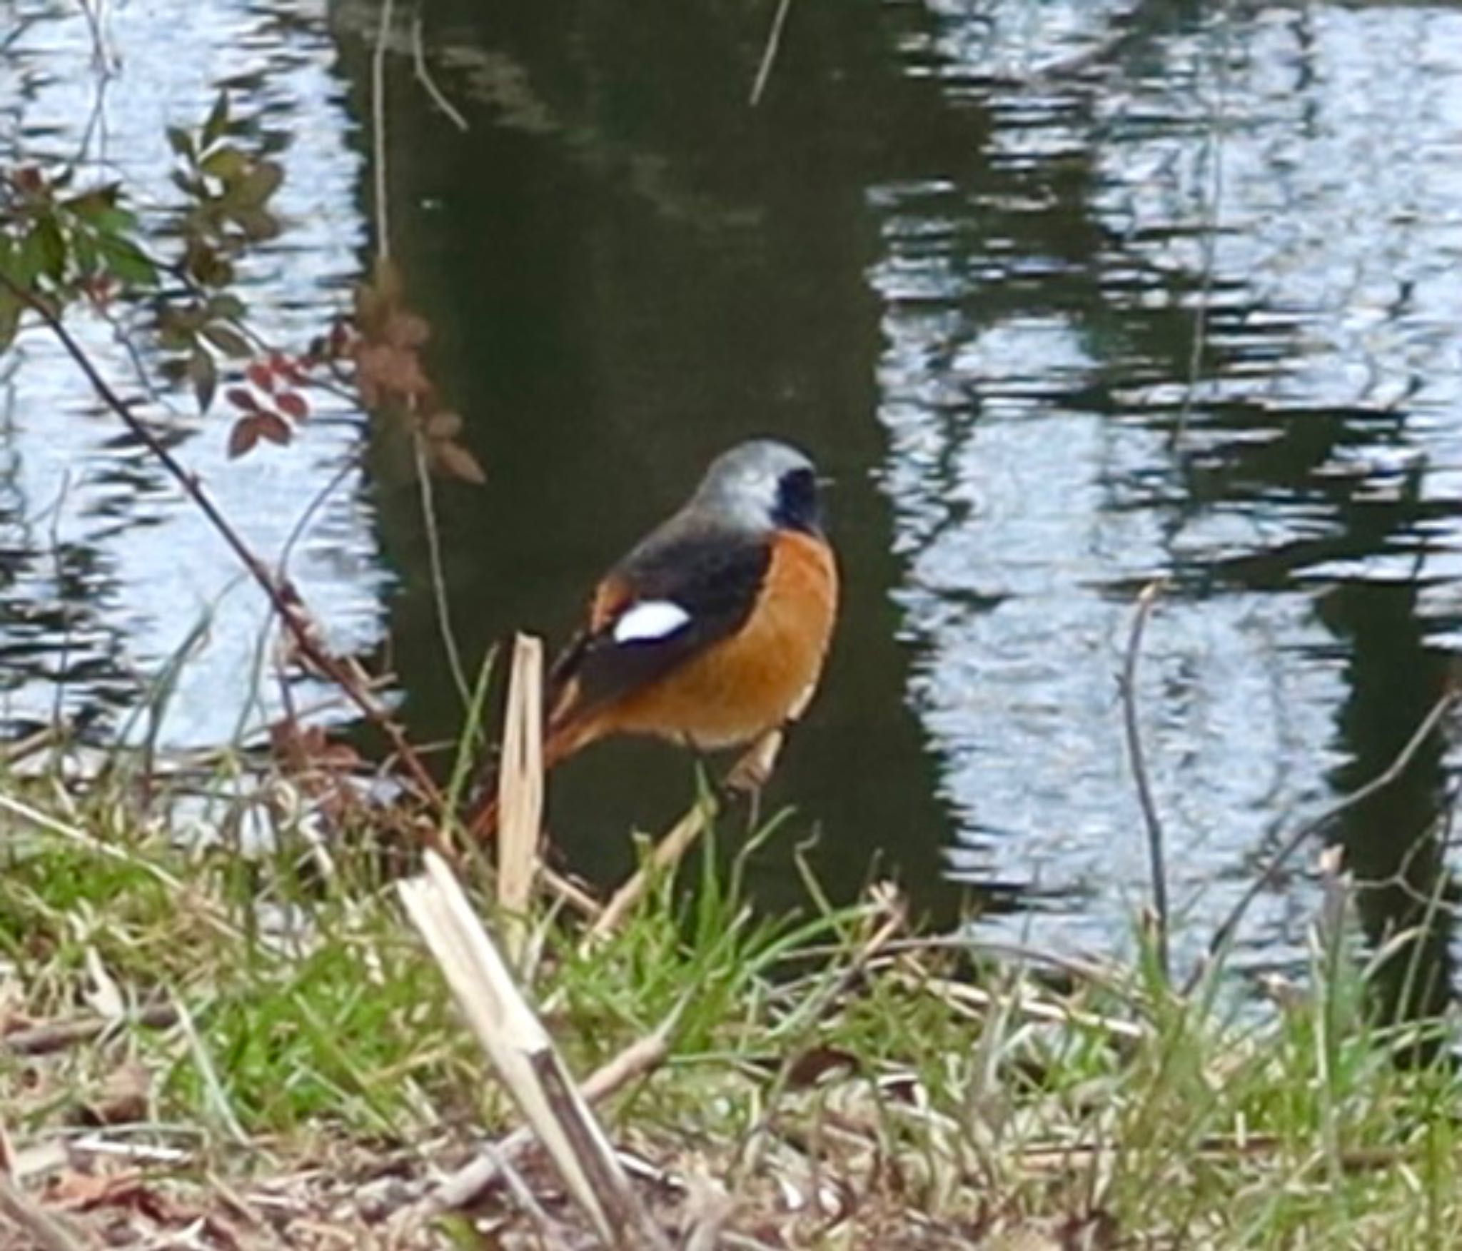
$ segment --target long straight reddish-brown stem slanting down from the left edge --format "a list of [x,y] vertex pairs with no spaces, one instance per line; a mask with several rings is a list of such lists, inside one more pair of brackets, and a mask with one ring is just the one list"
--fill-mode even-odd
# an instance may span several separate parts
[[[349,701],[360,708],[361,713],[364,713],[367,720],[370,720],[371,724],[374,724],[386,736],[390,742],[392,751],[411,774],[411,780],[415,783],[423,797],[437,812],[444,812],[444,800],[436,781],[431,778],[431,774],[411,748],[411,743],[406,742],[406,736],[401,726],[395,723],[386,707],[370,694],[368,683],[361,680],[361,673],[358,667],[351,663],[349,657],[335,657],[325,650],[323,644],[316,636],[313,622],[294,585],[288,581],[275,578],[275,575],[269,571],[269,566],[254,555],[254,552],[247,543],[244,543],[243,537],[234,528],[232,522],[230,522],[228,518],[219,511],[218,505],[213,503],[197,476],[190,473],[183,462],[173,455],[168,446],[152,433],[148,424],[137,417],[136,413],[133,413],[132,405],[111,388],[111,383],[108,383],[105,377],[101,376],[101,372],[95,364],[92,364],[91,358],[82,350],[80,344],[76,342],[72,332],[61,325],[56,313],[53,313],[42,300],[38,300],[3,272],[0,272],[0,284],[7,287],[20,300],[20,303],[45,322],[51,334],[56,335],[61,347],[66,348],[66,353],[73,361],[76,361],[77,367],[86,376],[92,391],[96,392],[101,401],[121,418],[123,424],[132,432],[132,435],[142,442],[148,452],[151,452],[152,457],[155,457],[168,471],[173,480],[183,489],[183,493],[193,500],[197,509],[208,519],[209,525],[213,527],[215,533],[224,540],[244,569],[249,571],[249,575],[254,579],[254,582],[259,584],[259,588],[265,593],[265,597],[269,600],[275,615],[292,636],[300,654],[320,673],[335,682],[345,692]],[[437,846],[439,838],[434,833],[425,837],[428,843]],[[437,850],[443,849],[437,847]],[[443,852],[443,854],[446,854],[446,852]]]

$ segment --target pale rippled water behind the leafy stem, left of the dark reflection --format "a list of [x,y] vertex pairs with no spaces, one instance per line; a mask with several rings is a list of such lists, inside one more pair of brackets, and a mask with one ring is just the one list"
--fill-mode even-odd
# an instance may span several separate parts
[[[240,296],[262,335],[303,345],[348,298],[366,236],[364,167],[323,10],[244,0],[102,6],[98,63],[83,7],[7,6],[0,161],[120,179],[158,224],[177,203],[165,127],[197,126],[228,86],[251,140],[285,167],[276,206],[287,228],[246,259]],[[121,334],[96,319],[75,326],[96,363],[142,395]],[[129,338],[133,329],[121,326]],[[99,732],[120,729],[189,647],[162,740],[212,745],[257,726],[278,707],[268,657],[259,675],[263,604],[222,543],[48,335],[22,335],[0,386],[0,714],[28,723],[56,710],[96,720]],[[269,559],[361,440],[358,414],[326,398],[295,451],[230,464],[221,416],[199,418],[183,391],[159,402],[189,468]],[[322,508],[289,568],[338,645],[380,636],[389,579],[358,476]]]

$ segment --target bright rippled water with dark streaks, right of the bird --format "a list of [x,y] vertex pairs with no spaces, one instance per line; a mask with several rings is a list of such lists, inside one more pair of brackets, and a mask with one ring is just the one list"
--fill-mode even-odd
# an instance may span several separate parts
[[[1038,882],[1076,929],[1142,898],[1113,673],[1165,575],[1142,696],[1206,932],[1354,759],[1360,664],[1364,715],[1415,721],[1401,675],[1456,639],[1462,13],[1215,10],[1113,47],[1101,6],[1056,6],[1038,51],[1082,69],[1000,83],[1039,75],[1029,32],[972,25],[952,6],[906,54],[999,119],[980,183],[873,190],[896,594],[953,866]],[[1327,613],[1352,584],[1414,634]],[[1311,903],[1268,900],[1265,958]]]

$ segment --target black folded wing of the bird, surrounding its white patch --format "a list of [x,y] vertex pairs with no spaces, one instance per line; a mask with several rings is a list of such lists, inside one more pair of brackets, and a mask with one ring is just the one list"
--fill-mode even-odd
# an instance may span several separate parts
[[[604,579],[611,597],[607,610],[554,664],[554,688],[575,682],[575,713],[583,713],[664,677],[741,629],[770,562],[770,544],[743,534],[667,530],[652,536]],[[616,623],[649,600],[670,600],[690,620],[661,638],[618,642]]]

